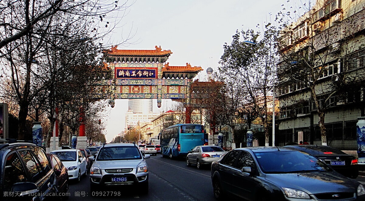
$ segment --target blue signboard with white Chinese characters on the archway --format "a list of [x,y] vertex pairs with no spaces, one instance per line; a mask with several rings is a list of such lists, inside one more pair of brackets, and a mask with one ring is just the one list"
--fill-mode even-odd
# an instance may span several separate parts
[[138,78],[155,79],[157,78],[157,68],[115,68],[115,78]]

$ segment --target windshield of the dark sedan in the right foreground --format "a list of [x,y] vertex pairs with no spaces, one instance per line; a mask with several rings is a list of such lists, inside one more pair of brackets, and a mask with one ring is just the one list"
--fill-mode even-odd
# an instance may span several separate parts
[[303,151],[270,151],[255,153],[264,173],[327,172],[330,168]]

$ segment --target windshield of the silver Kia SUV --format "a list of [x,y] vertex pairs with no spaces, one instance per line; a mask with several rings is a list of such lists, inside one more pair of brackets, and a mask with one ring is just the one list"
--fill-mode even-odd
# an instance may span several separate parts
[[142,159],[136,146],[104,147],[97,154],[97,161]]

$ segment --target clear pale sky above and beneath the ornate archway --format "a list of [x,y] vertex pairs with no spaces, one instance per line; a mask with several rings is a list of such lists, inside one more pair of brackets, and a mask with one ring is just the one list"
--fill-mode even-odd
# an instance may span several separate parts
[[[300,0],[295,0],[300,2]],[[161,46],[170,49],[167,62],[171,66],[201,66],[204,71],[196,78],[203,79],[207,67],[216,70],[223,44],[230,43],[236,29],[255,28],[287,5],[286,0],[136,0],[122,20],[123,29],[115,29],[112,41],[118,43],[132,28],[138,41],[118,49],[154,50]],[[291,4],[291,3],[290,3]],[[154,111],[166,111],[171,101],[163,101]],[[127,100],[116,100],[107,113],[107,142],[124,129]]]

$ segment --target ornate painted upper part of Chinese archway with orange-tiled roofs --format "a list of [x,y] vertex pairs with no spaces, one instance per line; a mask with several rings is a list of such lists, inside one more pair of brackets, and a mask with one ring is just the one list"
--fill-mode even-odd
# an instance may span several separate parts
[[[192,79],[203,69],[199,66],[170,66],[166,63],[170,50],[118,50],[117,46],[104,50],[105,67],[114,72],[108,85],[115,99],[162,99],[189,102]],[[107,86],[104,86],[107,87]]]

